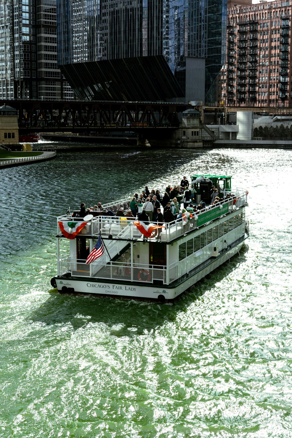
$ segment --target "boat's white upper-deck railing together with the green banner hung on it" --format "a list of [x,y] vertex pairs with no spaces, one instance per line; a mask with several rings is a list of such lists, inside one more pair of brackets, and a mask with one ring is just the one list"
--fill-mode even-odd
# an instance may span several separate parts
[[[171,242],[178,237],[183,236],[186,233],[199,228],[201,225],[207,225],[214,219],[225,215],[228,212],[235,211],[240,207],[243,207],[247,203],[247,191],[243,189],[237,189],[233,192],[234,198],[230,198],[225,201],[221,201],[216,205],[210,205],[204,209],[201,213],[196,213],[193,218],[185,220],[183,218],[176,219],[170,223],[164,223],[160,233],[160,239],[162,242]],[[120,201],[120,204],[127,201]],[[110,205],[104,205],[105,208],[109,208]],[[105,213],[106,214],[106,213]],[[59,216],[57,218],[57,234],[60,235],[59,222],[82,222],[82,218],[67,218],[66,215]],[[113,240],[128,240],[137,241],[143,239],[143,234],[134,225],[134,222],[138,221],[135,218],[127,218],[120,216],[97,216],[92,218],[84,228],[80,231],[78,236],[87,236],[92,238],[98,238],[99,235],[102,238]],[[157,221],[151,223],[157,224]],[[156,233],[155,233],[156,235]],[[155,236],[153,236],[155,237]]]

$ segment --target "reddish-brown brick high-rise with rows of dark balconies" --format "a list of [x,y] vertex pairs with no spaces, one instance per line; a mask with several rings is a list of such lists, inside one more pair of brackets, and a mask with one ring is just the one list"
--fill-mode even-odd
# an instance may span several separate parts
[[229,106],[291,106],[292,2],[230,5],[227,55],[218,101]]

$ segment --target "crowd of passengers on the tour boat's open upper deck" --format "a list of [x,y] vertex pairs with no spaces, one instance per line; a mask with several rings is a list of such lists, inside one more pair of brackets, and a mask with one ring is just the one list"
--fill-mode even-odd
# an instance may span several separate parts
[[[183,208],[181,208],[176,198],[179,194],[183,194]],[[170,223],[176,219],[182,219],[185,212],[192,215],[202,213],[208,208],[213,208],[228,200],[233,202],[236,199],[234,193],[226,194],[224,198],[220,198],[219,191],[215,186],[212,186],[208,206],[206,206],[204,201],[196,205],[195,196],[196,190],[193,184],[189,184],[186,177],[183,177],[180,185],[175,187],[168,185],[163,196],[158,189],[149,191],[148,186],[145,186],[145,189],[140,194],[135,193],[133,198],[131,198],[129,209],[124,210],[123,207],[120,207],[116,214],[108,211],[98,202],[97,205],[90,208],[85,208],[85,204],[81,203],[79,215],[84,217],[91,212],[105,212],[109,216],[137,218],[144,223],[157,222],[158,224],[163,224]],[[161,206],[163,207],[163,213]]]

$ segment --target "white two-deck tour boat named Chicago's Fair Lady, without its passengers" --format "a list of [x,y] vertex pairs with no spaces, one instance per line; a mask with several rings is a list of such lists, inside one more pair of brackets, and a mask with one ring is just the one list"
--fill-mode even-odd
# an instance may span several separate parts
[[[57,275],[51,285],[60,293],[170,301],[237,254],[249,236],[248,191],[231,188],[227,176],[195,175],[192,179],[197,203],[207,204],[204,211],[185,214],[152,233],[153,227],[149,228],[147,238],[141,230],[148,226],[137,219],[107,215],[122,206],[128,209],[128,200],[104,205],[106,212],[83,219],[59,216]],[[212,185],[223,198],[215,206],[208,205]],[[232,197],[224,199],[230,193]],[[64,238],[68,251],[61,255],[59,242]],[[86,263],[94,248],[99,257]]]

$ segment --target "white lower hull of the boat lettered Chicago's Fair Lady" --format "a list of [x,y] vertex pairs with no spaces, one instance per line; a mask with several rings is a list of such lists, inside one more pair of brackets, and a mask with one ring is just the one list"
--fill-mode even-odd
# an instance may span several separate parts
[[134,298],[155,301],[172,301],[179,297],[185,290],[189,289],[199,280],[210,274],[214,269],[225,263],[234,255],[238,254],[243,246],[243,241],[234,247],[219,254],[216,258],[211,258],[206,266],[199,271],[190,274],[186,279],[175,286],[171,284],[154,285],[146,282],[113,282],[112,280],[95,278],[74,278],[67,276],[56,276],[56,286],[60,293],[82,293],[99,295],[112,298]]

